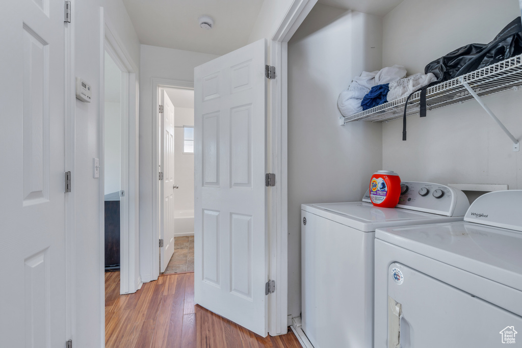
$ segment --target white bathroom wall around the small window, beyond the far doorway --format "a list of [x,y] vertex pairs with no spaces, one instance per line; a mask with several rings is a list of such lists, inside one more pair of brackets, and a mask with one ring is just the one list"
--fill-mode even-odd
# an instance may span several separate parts
[[194,154],[183,153],[183,128],[179,128],[194,126],[194,109],[174,106],[174,125],[174,181],[180,187],[174,191],[174,211],[194,210]]

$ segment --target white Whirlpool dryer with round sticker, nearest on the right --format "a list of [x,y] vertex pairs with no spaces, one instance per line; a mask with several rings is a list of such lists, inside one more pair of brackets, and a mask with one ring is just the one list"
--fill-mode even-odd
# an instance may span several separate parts
[[375,238],[375,348],[522,347],[522,190]]

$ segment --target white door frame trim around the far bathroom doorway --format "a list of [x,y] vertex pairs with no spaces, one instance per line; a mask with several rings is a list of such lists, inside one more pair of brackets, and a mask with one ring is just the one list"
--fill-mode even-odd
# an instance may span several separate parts
[[[156,280],[160,274],[160,255],[158,241],[161,235],[161,219],[163,214],[163,191],[162,185],[158,179],[159,175],[159,146],[161,138],[159,137],[160,117],[163,117],[159,113],[158,105],[160,101],[159,90],[163,88],[176,88],[194,90],[194,81],[182,81],[164,78],[151,78],[152,85],[152,241],[151,241],[151,254],[152,262],[150,262],[150,274],[152,274],[152,280]],[[175,117],[175,116],[174,116]],[[160,191],[161,190],[161,191]]]

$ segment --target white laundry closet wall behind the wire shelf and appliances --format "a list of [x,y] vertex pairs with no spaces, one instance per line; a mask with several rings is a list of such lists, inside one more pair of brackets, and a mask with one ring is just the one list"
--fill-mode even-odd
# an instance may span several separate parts
[[[405,0],[384,17],[383,62],[403,64],[408,74],[462,45],[488,43],[515,17],[516,0]],[[484,98],[517,139],[522,138],[521,91]],[[508,184],[522,188],[522,152],[479,104],[468,101],[383,124],[383,167],[402,179],[436,183]]]

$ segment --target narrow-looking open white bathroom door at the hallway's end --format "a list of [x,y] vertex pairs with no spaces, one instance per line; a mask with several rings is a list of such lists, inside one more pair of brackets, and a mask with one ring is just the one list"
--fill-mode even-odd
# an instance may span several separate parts
[[174,105],[167,92],[161,90],[161,169],[163,170],[163,218],[160,238],[163,246],[160,251],[160,271],[164,272],[174,254]]

